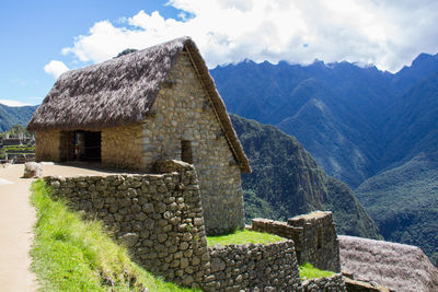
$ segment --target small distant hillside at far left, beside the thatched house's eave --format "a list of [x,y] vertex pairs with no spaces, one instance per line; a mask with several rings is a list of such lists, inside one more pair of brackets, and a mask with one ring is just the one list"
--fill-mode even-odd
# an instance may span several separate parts
[[16,124],[25,127],[37,107],[0,104],[0,131],[8,131]]

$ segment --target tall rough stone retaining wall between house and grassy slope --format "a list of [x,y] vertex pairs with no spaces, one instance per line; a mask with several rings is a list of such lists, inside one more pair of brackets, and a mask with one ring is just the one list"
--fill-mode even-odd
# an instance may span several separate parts
[[159,175],[47,176],[56,197],[99,219],[136,261],[166,280],[199,287],[210,261],[194,167],[163,162]]

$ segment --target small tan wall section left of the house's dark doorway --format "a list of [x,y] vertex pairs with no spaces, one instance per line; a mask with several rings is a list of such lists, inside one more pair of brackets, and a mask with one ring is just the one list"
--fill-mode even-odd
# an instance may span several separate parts
[[35,160],[59,161],[60,131],[41,131],[35,133]]

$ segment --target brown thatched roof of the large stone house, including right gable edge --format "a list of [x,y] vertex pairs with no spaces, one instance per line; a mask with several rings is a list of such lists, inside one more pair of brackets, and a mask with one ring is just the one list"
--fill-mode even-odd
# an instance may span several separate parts
[[37,108],[31,131],[102,129],[141,121],[181,51],[187,51],[243,172],[251,172],[227,108],[189,37],[177,38],[60,75]]

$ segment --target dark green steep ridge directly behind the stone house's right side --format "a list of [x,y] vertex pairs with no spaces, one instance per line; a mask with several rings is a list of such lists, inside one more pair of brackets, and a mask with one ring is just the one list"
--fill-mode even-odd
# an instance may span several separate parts
[[273,126],[231,115],[253,173],[243,175],[249,218],[287,218],[332,210],[341,234],[379,238],[351,189],[327,176],[302,145]]

